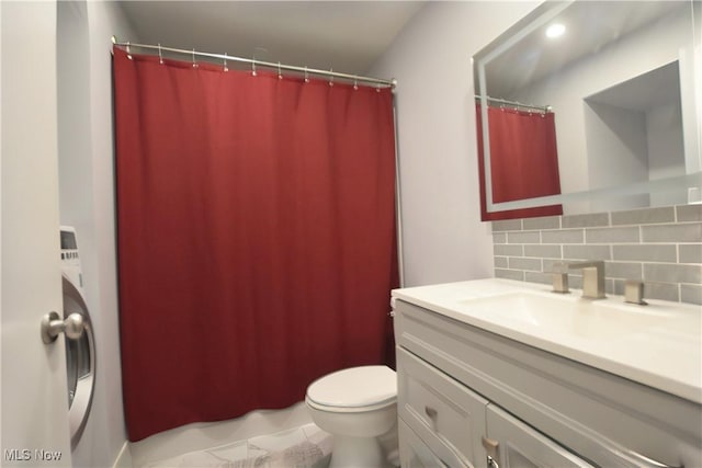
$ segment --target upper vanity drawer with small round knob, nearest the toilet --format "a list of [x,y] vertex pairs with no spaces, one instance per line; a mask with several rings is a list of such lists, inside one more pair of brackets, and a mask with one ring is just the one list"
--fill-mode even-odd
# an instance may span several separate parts
[[397,347],[399,418],[451,466],[486,465],[486,399]]

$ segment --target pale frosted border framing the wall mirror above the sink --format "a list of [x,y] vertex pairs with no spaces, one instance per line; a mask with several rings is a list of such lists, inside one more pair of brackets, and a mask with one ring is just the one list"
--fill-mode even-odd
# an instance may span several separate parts
[[[489,144],[489,122],[488,122],[488,94],[487,94],[487,77],[485,68],[487,64],[502,52],[511,47],[517,42],[521,41],[528,34],[534,30],[542,27],[548,21],[556,18],[568,7],[570,7],[576,0],[569,1],[544,1],[537,5],[532,12],[526,14],[520,21],[514,23],[511,27],[500,34],[497,38],[490,42],[483,49],[477,52],[472,58],[474,85],[477,84],[476,99],[480,103],[480,119],[483,126],[483,155],[478,153],[478,158],[483,158],[484,173],[479,174],[482,180],[483,195],[485,196],[485,204],[487,213],[501,213],[511,209],[534,208],[548,205],[566,205],[570,202],[590,202],[611,199],[612,197],[619,198],[630,195],[652,194],[658,192],[665,192],[670,190],[684,189],[698,189],[702,190],[702,87],[694,85],[694,83],[702,82],[702,46],[701,46],[701,33],[700,24],[702,24],[702,4],[699,1],[690,0],[690,10],[692,14],[693,30],[692,35],[692,57],[684,57],[687,67],[687,73],[690,73],[692,90],[688,90],[690,95],[694,96],[694,112],[692,113],[691,121],[683,123],[684,130],[692,128],[688,132],[686,139],[686,174],[670,178],[664,178],[658,180],[642,181],[636,183],[630,183],[621,186],[611,186],[603,189],[586,190],[571,193],[562,193],[559,195],[541,196],[535,198],[524,198],[512,202],[492,202],[492,184],[490,173],[490,144]],[[695,5],[695,3],[698,3]],[[477,130],[476,130],[477,132]],[[689,155],[688,151],[691,153]],[[697,152],[697,155],[695,155]],[[698,197],[702,199],[702,194],[698,193]],[[690,202],[688,202],[690,203]],[[568,214],[565,213],[564,214]],[[579,214],[579,213],[578,213]]]

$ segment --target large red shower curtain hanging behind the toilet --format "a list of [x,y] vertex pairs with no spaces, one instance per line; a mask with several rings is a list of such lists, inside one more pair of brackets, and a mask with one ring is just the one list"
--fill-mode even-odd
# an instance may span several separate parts
[[129,440],[392,361],[392,92],[118,48],[114,83]]

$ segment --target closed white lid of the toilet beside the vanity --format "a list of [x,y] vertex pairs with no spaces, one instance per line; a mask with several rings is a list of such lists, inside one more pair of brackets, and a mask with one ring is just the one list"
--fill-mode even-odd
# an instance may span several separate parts
[[380,407],[395,402],[396,398],[395,372],[386,366],[338,370],[307,387],[307,401],[317,407]]

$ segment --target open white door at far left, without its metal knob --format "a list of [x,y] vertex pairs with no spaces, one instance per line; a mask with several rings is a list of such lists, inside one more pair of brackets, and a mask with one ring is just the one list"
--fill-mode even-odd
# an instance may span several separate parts
[[0,1],[2,466],[70,466],[61,316],[56,3]]

